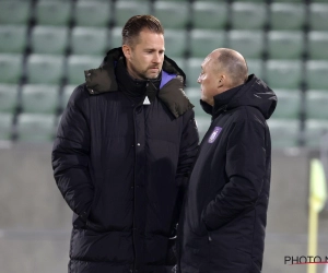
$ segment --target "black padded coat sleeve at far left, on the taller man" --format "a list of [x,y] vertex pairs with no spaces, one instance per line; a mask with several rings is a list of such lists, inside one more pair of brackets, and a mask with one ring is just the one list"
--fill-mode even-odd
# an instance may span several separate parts
[[65,109],[52,147],[52,168],[57,186],[70,209],[85,219],[94,188],[89,171],[90,129],[82,110],[84,87],[74,90]]

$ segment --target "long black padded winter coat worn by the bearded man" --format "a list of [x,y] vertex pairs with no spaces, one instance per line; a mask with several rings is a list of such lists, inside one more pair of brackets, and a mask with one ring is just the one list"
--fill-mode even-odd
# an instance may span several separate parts
[[198,149],[192,105],[168,58],[159,92],[126,79],[130,92],[155,94],[150,105],[134,105],[116,82],[119,58],[114,49],[85,71],[54,144],[55,179],[74,212],[71,273],[164,273],[175,263],[169,238]]

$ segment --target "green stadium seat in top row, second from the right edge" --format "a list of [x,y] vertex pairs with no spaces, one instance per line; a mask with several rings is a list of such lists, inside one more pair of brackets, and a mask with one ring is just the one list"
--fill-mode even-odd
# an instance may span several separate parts
[[272,3],[270,27],[274,31],[301,31],[306,20],[306,7],[301,3]]

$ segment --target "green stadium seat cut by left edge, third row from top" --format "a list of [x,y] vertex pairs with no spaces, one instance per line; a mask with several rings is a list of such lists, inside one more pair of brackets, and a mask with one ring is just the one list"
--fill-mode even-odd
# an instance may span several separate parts
[[17,83],[22,76],[23,55],[0,54],[0,83]]

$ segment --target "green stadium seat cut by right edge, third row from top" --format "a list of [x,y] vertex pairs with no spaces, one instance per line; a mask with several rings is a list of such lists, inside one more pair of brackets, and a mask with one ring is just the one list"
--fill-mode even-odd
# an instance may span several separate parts
[[309,90],[327,90],[328,61],[307,61],[306,83]]

